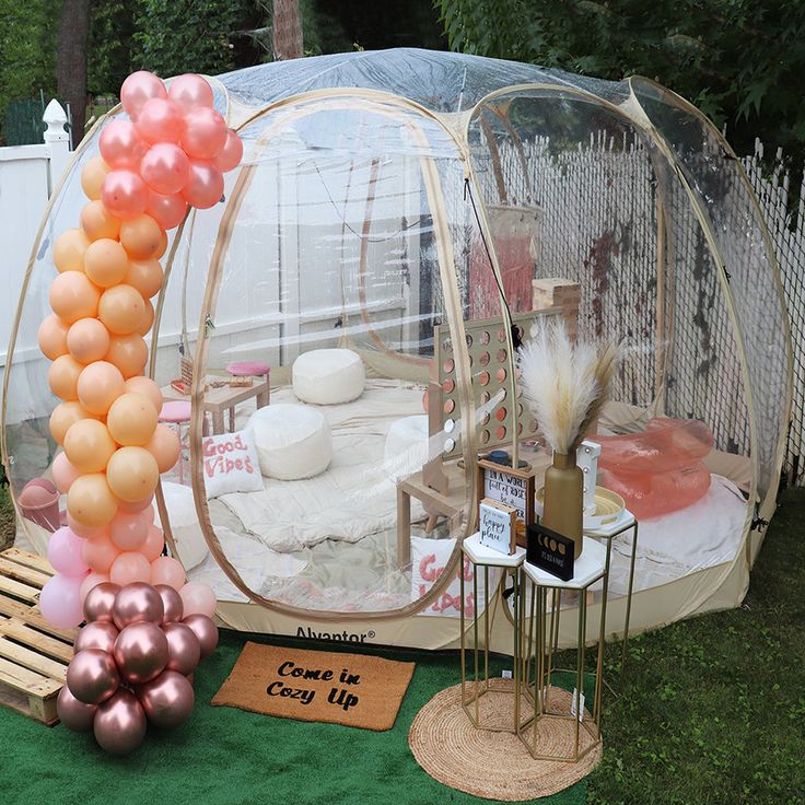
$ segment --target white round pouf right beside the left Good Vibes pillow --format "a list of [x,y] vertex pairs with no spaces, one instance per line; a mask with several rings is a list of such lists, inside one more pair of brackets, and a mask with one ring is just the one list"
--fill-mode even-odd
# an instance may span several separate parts
[[320,411],[294,402],[257,409],[248,420],[260,471],[293,481],[324,472],[332,458],[330,425]]

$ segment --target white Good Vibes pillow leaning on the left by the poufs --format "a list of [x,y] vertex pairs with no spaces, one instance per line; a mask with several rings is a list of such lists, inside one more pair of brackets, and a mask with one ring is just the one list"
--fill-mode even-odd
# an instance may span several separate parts
[[230,492],[262,490],[254,433],[235,431],[201,440],[207,500]]

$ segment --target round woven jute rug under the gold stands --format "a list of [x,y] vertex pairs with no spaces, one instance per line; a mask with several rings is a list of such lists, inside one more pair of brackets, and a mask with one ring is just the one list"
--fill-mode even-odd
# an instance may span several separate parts
[[[495,680],[500,687],[502,682]],[[510,687],[511,692],[487,693],[479,700],[483,707],[482,723],[511,723],[514,684],[510,682]],[[570,708],[570,700],[567,690],[550,689],[552,709]],[[525,699],[521,712],[528,712]],[[550,746],[551,752],[572,752],[573,737],[571,720],[540,721],[540,746]],[[580,740],[582,749],[592,743],[585,730],[581,730]],[[408,745],[417,762],[434,780],[474,796],[505,802],[549,796],[573,785],[593,770],[603,748],[598,744],[578,763],[535,760],[514,733],[472,726],[462,709],[460,685],[436,693],[419,711],[408,733]]]

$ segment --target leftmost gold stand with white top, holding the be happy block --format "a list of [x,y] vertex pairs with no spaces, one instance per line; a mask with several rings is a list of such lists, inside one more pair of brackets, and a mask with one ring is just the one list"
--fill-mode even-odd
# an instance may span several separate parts
[[[490,730],[493,732],[512,732],[516,733],[520,726],[520,697],[522,686],[522,656],[520,648],[522,639],[520,633],[523,618],[514,619],[514,645],[512,651],[512,676],[514,678],[514,701],[512,704],[512,725],[511,727],[485,723],[481,713],[480,702],[482,697],[489,693],[512,697],[511,685],[497,685],[499,679],[489,678],[489,627],[490,627],[490,591],[489,591],[489,569],[500,569],[504,573],[512,574],[514,582],[514,611],[520,612],[522,609],[521,595],[521,578],[520,568],[525,561],[525,548],[515,547],[514,553],[506,556],[497,550],[487,548],[480,542],[478,533],[467,537],[462,544],[463,555],[472,565],[472,602],[474,617],[469,626],[464,615],[465,581],[464,572],[460,575],[462,591],[462,608],[460,608],[460,630],[462,630],[462,708],[467,718],[476,730]],[[478,594],[478,573],[483,569],[483,594],[479,598]],[[495,591],[497,592],[497,585]],[[481,622],[482,621],[482,622]],[[470,645],[467,646],[469,637]],[[467,655],[471,657],[471,679],[467,678]]]

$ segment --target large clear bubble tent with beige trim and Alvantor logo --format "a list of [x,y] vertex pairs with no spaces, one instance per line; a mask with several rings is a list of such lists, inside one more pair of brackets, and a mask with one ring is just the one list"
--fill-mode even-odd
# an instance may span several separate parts
[[[550,458],[510,325],[527,337],[535,317],[557,315],[587,338],[628,339],[598,433],[640,436],[667,417],[713,436],[704,497],[641,520],[632,629],[739,604],[774,511],[791,348],[752,190],[701,113],[646,79],[416,49],[211,82],[244,161],[221,202],[172,236],[149,371],[166,396],[189,383],[160,520],[224,625],[456,645],[478,457]],[[33,247],[4,376],[14,498],[59,450],[36,348],[51,245],[77,225],[81,168],[119,115],[82,141]],[[629,198],[614,189],[623,172]],[[254,376],[228,385],[243,362]],[[233,431],[255,442],[248,491],[213,488],[214,440]],[[48,533],[21,515],[18,545],[45,552]],[[612,632],[630,552],[627,534]],[[492,600],[492,643],[508,651],[511,612]]]

